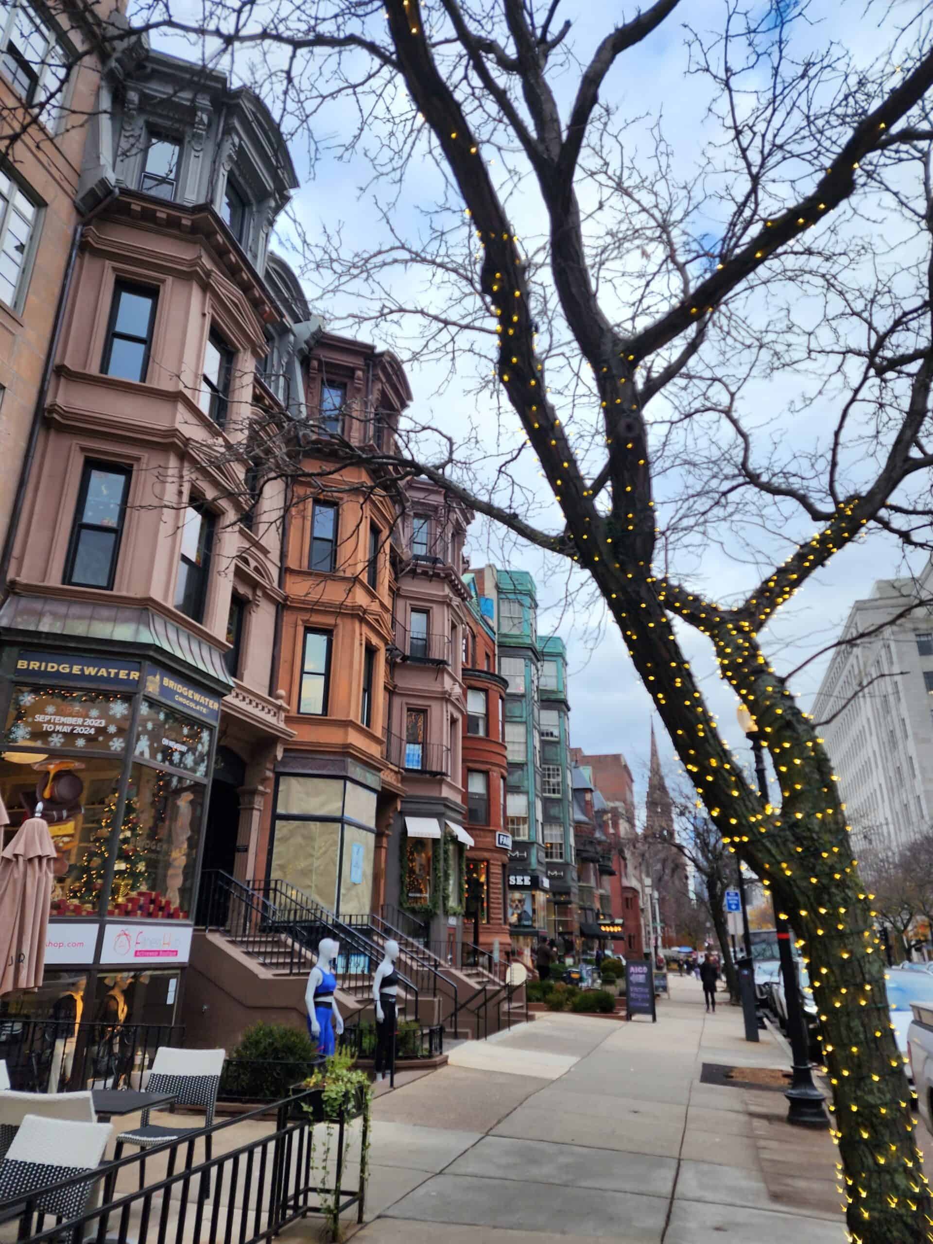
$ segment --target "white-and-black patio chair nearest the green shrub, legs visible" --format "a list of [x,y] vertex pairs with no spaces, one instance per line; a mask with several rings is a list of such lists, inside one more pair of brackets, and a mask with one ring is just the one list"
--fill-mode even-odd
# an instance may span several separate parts
[[[220,1072],[224,1067],[226,1050],[178,1050],[160,1045],[152,1064],[147,1092],[175,1093],[177,1106],[203,1106],[204,1122],[198,1127],[164,1127],[149,1122],[149,1111],[144,1110],[139,1127],[117,1136],[117,1148],[113,1161],[119,1162],[124,1144],[138,1144],[142,1149],[152,1149],[169,1141],[182,1142],[189,1136],[210,1127],[214,1122]],[[204,1157],[210,1161],[210,1133],[204,1137]],[[139,1162],[139,1187],[146,1187],[146,1158]],[[208,1181],[202,1186],[202,1197],[207,1195]]]

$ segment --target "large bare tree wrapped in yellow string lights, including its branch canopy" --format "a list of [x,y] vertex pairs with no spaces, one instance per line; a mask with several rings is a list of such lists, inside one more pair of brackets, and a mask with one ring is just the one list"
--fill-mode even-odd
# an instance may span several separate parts
[[[806,2],[724,0],[717,31],[687,30],[678,90],[707,119],[684,158],[659,114],[618,103],[677,0],[608,20],[593,47],[581,7],[143,0],[137,17],[226,57],[312,160],[326,132],[364,158],[378,228],[295,220],[305,276],[322,305],[352,300],[348,325],[377,323],[501,417],[457,435],[423,420],[367,454],[320,429],[269,437],[264,473],[337,488],[366,457],[399,506],[423,475],[605,602],[698,805],[806,943],[852,1239],[929,1239],[875,909],[822,739],[763,644],[862,535],[931,545],[928,14],[897,29],[886,10],[889,47],[856,65],[815,41]],[[415,210],[406,192],[425,178]],[[245,442],[219,453],[253,462]],[[749,567],[726,603],[699,586],[717,550]],[[689,629],[754,715],[780,804],[720,738]]]

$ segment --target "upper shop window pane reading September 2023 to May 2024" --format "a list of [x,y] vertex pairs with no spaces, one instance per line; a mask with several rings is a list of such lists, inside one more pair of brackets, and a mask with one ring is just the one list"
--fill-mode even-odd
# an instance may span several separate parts
[[122,754],[128,725],[129,700],[124,695],[17,687],[6,714],[4,743],[17,748],[77,748]]

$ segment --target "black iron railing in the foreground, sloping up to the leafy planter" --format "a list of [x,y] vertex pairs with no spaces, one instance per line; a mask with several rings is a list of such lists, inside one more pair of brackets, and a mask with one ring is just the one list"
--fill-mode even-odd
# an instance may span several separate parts
[[[307,1107],[307,1108],[305,1108]],[[87,1184],[87,1173],[47,1183],[29,1193],[17,1193],[0,1202],[0,1220],[17,1224],[17,1239],[30,1244],[63,1240],[103,1242],[106,1239],[138,1239],[146,1244],[185,1244],[188,1240],[238,1240],[238,1244],[259,1244],[277,1235],[290,1223],[310,1215],[331,1217],[356,1207],[362,1223],[366,1182],[343,1188],[347,1125],[358,1111],[341,1110],[332,1120],[336,1146],[331,1146],[333,1183],[330,1169],[316,1166],[321,1146],[312,1144],[315,1121],[323,1117],[322,1090],[292,1093],[275,1103],[275,1128],[259,1140],[236,1144],[236,1132],[244,1122],[258,1120],[267,1107],[261,1107],[235,1120],[215,1123],[188,1133],[179,1144],[169,1141],[154,1148],[103,1163],[97,1172],[102,1181],[100,1198],[73,1218],[44,1213],[41,1203],[50,1193],[66,1192]],[[366,1152],[368,1115],[363,1113],[361,1147]],[[218,1137],[218,1133],[226,1136]],[[214,1138],[220,1143],[214,1146]],[[195,1163],[195,1151],[204,1152],[205,1138],[211,1148],[234,1147],[220,1157]],[[167,1162],[165,1178],[146,1182],[146,1162],[156,1158],[149,1169]],[[121,1187],[137,1191],[117,1192]],[[137,1188],[138,1186],[138,1188]]]

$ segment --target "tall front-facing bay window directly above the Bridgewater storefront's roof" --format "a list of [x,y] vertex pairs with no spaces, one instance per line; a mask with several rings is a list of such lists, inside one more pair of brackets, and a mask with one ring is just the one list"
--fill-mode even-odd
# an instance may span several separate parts
[[71,531],[65,582],[76,587],[113,587],[123,536],[129,470],[86,462]]

